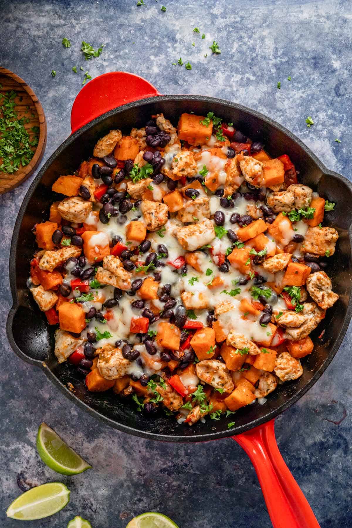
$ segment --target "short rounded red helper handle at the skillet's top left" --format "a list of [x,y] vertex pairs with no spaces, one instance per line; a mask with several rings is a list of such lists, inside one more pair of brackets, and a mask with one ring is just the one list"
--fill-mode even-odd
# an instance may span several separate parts
[[72,134],[113,108],[159,95],[153,84],[134,73],[103,73],[85,84],[75,98],[71,110]]

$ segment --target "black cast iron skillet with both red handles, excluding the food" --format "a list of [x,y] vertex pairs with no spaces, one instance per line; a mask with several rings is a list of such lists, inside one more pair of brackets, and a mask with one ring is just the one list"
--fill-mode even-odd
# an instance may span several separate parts
[[[36,222],[42,222],[49,216],[53,201],[51,185],[56,178],[72,174],[83,159],[91,156],[97,139],[110,129],[119,128],[128,134],[132,127],[144,126],[150,115],[158,112],[163,112],[177,124],[179,115],[190,111],[198,115],[213,111],[225,121],[233,122],[235,128],[251,139],[264,142],[273,157],[288,154],[300,173],[300,182],[311,186],[330,202],[337,203],[334,211],[326,213],[325,224],[336,228],[339,233],[329,274],[340,299],[333,309],[327,311],[325,320],[311,335],[315,350],[303,359],[301,378],[279,385],[263,406],[254,404],[237,411],[233,419],[235,426],[231,429],[227,428],[228,419],[198,422],[193,427],[180,426],[162,414],[148,419],[136,412],[133,402],[117,398],[111,391],[88,392],[76,369],[69,363],[56,363],[53,353],[54,331],[48,327],[44,315],[39,312],[26,288],[29,262],[35,248],[32,228]],[[71,126],[73,134],[37,174],[17,216],[9,265],[13,307],[7,319],[7,336],[13,350],[24,361],[40,366],[48,378],[81,408],[110,426],[132,435],[192,442],[242,433],[235,439],[252,458],[274,526],[318,526],[305,497],[279,454],[273,434],[273,421],[269,420],[288,409],[320,378],[346,333],[351,316],[351,183],[343,176],[328,171],[297,137],[259,112],[211,97],[160,96],[144,79],[123,72],[104,74],[81,90],[72,108]],[[324,334],[318,337],[323,329]],[[266,422],[269,425],[262,426]],[[256,429],[253,431],[253,428]],[[246,432],[250,430],[250,433]]]

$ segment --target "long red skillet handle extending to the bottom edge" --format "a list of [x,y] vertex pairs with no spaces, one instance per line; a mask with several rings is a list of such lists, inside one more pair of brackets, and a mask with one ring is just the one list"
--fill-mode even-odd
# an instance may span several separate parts
[[280,454],[274,420],[232,438],[252,461],[274,528],[319,528],[306,497]]

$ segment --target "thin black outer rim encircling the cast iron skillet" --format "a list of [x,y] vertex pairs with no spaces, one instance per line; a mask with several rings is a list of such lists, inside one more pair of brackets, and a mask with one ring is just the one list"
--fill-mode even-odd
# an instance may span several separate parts
[[[45,361],[41,360],[34,360],[31,357],[28,357],[15,343],[14,337],[13,337],[13,318],[17,312],[18,307],[20,306],[18,303],[18,297],[17,297],[17,288],[16,288],[16,250],[17,250],[17,239],[18,239],[18,233],[21,228],[21,223],[23,220],[23,217],[25,215],[28,202],[30,201],[33,193],[36,190],[37,185],[40,183],[43,175],[45,174],[47,168],[53,163],[53,161],[56,159],[56,157],[63,152],[63,150],[68,147],[71,143],[75,141],[81,134],[83,134],[85,131],[87,131],[92,126],[98,124],[100,121],[103,121],[107,117],[111,117],[117,114],[120,114],[120,112],[125,111],[130,108],[136,108],[136,107],[142,107],[144,105],[148,105],[149,103],[158,103],[159,101],[178,101],[178,100],[194,100],[194,101],[201,101],[205,103],[209,103],[210,105],[212,103],[220,104],[223,107],[227,107],[230,109],[240,110],[242,112],[245,112],[249,115],[252,115],[256,118],[261,119],[266,124],[268,124],[270,127],[277,129],[281,131],[285,136],[289,137],[294,143],[296,143],[300,149],[302,149],[312,160],[313,163],[315,163],[322,174],[329,175],[332,178],[336,178],[337,180],[342,181],[344,184],[346,184],[352,194],[352,183],[347,180],[344,176],[334,172],[329,171],[327,167],[320,161],[320,159],[308,148],[297,136],[292,134],[290,130],[288,130],[286,127],[283,127],[278,122],[274,121],[270,117],[267,117],[260,112],[256,110],[252,110],[248,107],[239,105],[238,103],[233,103],[231,101],[218,99],[215,97],[208,97],[208,96],[196,96],[196,95],[168,95],[168,96],[154,96],[149,97],[146,99],[138,99],[137,101],[132,101],[130,103],[127,103],[126,105],[119,106],[115,109],[109,110],[108,112],[105,112],[104,114],[98,116],[97,118],[93,119],[92,121],[88,122],[87,124],[83,125],[81,128],[76,130],[73,134],[71,134],[68,138],[64,140],[64,142],[55,150],[55,152],[47,159],[43,167],[40,169],[39,173],[35,176],[32,184],[28,188],[28,191],[23,199],[23,202],[21,204],[20,210],[18,211],[13,234],[12,234],[12,240],[11,240],[11,249],[9,254],[9,282],[10,282],[10,288],[11,288],[11,295],[13,299],[13,305],[12,308],[9,310],[9,314],[6,321],[6,334],[9,341],[9,344],[11,345],[13,351],[16,353],[17,356],[21,357],[22,360],[26,361],[27,363],[31,363],[33,365],[40,366],[45,374],[48,376],[48,378],[54,383],[55,386],[57,386],[63,394],[66,395],[69,399],[71,399],[75,404],[78,404],[79,407],[84,409],[85,411],[88,411],[91,416],[99,418],[105,423],[108,423],[108,425],[114,427],[115,429],[120,430],[121,432],[126,432],[134,436],[138,436],[141,438],[149,439],[149,440],[161,440],[161,441],[168,441],[168,442],[194,442],[194,441],[210,441],[215,440],[217,438],[226,438],[226,437],[232,437],[234,435],[238,435],[242,432],[251,430],[254,427],[258,427],[259,425],[262,425],[265,422],[268,422],[269,420],[277,417],[279,414],[281,414],[283,411],[291,407],[294,403],[296,403],[320,378],[322,373],[325,372],[329,364],[331,363],[332,359],[334,359],[337,351],[339,350],[339,347],[343,341],[343,338],[345,337],[345,334],[347,332],[347,328],[350,323],[350,318],[352,315],[352,295],[350,294],[348,299],[348,305],[346,310],[346,315],[343,320],[343,324],[341,325],[339,332],[337,334],[337,337],[335,338],[334,345],[332,345],[331,350],[326,357],[324,363],[320,366],[320,368],[312,375],[312,378],[305,384],[303,387],[298,390],[296,393],[294,393],[286,402],[284,402],[281,406],[276,407],[275,409],[269,411],[267,414],[265,414],[263,417],[255,419],[250,422],[250,424],[243,425],[243,426],[236,426],[234,428],[231,428],[227,431],[220,431],[220,432],[208,432],[208,433],[198,433],[196,435],[165,435],[165,434],[158,434],[154,432],[146,432],[138,428],[129,427],[126,425],[123,425],[115,420],[112,420],[111,418],[108,418],[101,414],[99,411],[92,409],[90,406],[88,406],[87,403],[84,403],[82,400],[80,400],[78,397],[74,395],[73,392],[71,392],[68,387],[63,385],[58,378],[56,378],[55,374],[49,369],[49,367],[46,365]],[[348,228],[348,238],[349,238],[349,245],[351,249],[351,240],[352,240],[352,224],[349,225]],[[351,258],[350,253],[350,258]]]

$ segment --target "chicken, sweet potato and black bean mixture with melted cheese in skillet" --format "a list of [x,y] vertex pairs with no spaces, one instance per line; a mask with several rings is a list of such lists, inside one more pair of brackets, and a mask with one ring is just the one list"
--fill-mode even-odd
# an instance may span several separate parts
[[213,112],[151,117],[53,184],[28,285],[89,391],[193,425],[302,375],[338,299],[335,204]]

